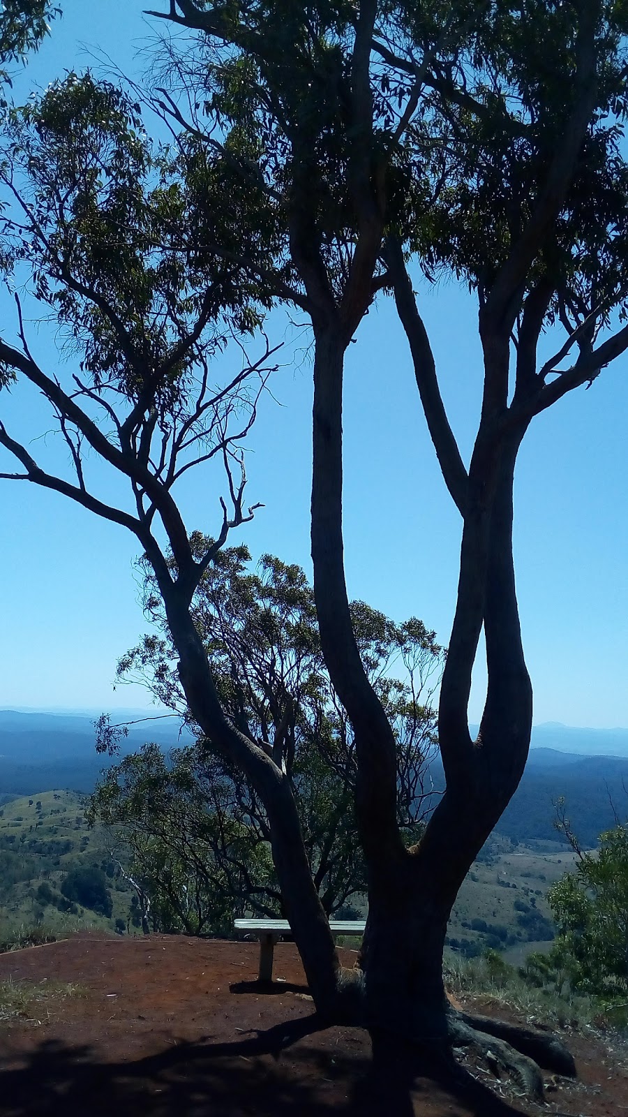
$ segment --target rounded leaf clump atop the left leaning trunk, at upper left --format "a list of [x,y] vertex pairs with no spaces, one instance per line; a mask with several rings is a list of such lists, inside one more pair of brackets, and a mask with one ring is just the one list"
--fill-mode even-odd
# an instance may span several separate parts
[[238,328],[258,321],[237,269],[181,245],[181,228],[198,217],[189,170],[183,155],[150,142],[137,102],[89,73],[13,109],[7,128],[2,176],[21,191],[22,211],[4,222],[8,261],[28,262],[34,294],[97,391],[137,400],[160,371],[162,417],[194,362],[223,343],[217,317],[229,307]]

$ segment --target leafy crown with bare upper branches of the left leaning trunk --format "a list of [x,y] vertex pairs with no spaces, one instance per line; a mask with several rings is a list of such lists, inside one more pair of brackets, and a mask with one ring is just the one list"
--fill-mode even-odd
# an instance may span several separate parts
[[[248,515],[242,507],[239,443],[276,367],[268,363],[264,335],[256,360],[245,355],[242,361],[244,341],[251,341],[261,323],[263,293],[209,241],[201,252],[182,237],[182,229],[199,225],[199,206],[206,231],[213,223],[213,239],[235,236],[222,218],[222,198],[217,193],[210,201],[212,173],[212,161],[203,154],[199,200],[190,145],[153,143],[141,104],[89,73],[53,83],[27,106],[10,109],[4,121],[0,264],[18,304],[23,357],[18,365],[56,401],[74,484],[41,470],[0,424],[0,441],[27,469],[6,476],[37,477],[123,523],[144,548],[150,548],[158,512],[181,544],[178,560],[184,553],[188,563],[171,489],[188,469],[217,458],[234,506],[229,518],[222,500],[220,543],[231,526],[251,518],[256,506]],[[245,240],[247,228],[240,220],[237,229]],[[29,350],[22,298],[35,299],[58,325],[66,352],[78,357],[64,386],[39,369]],[[2,344],[0,388],[15,380],[17,356]],[[237,351],[238,370],[216,383],[211,363],[229,346]],[[133,515],[97,498],[85,454],[95,443],[130,481]],[[154,556],[159,547],[152,542]]]

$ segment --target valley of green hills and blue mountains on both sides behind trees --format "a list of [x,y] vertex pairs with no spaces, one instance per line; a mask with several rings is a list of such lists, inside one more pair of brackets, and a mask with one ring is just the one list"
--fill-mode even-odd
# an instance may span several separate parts
[[[149,736],[165,751],[179,743],[168,719],[140,723],[130,727],[123,753]],[[553,744],[559,738],[554,728]],[[569,732],[564,739],[572,739]],[[104,830],[89,829],[84,813],[86,793],[110,763],[95,753],[88,717],[0,712],[0,943],[78,928],[141,933],[134,890]],[[437,765],[432,781],[438,790]],[[533,748],[516,795],[460,889],[448,949],[474,957],[493,948],[517,965],[526,953],[546,949],[553,937],[546,892],[574,862],[553,824],[555,803],[564,796],[575,832],[592,847],[613,824],[613,806],[620,812],[626,781],[626,757]],[[57,790],[42,790],[50,787]],[[82,894],[91,903],[73,898],[78,870],[93,877],[94,895]]]

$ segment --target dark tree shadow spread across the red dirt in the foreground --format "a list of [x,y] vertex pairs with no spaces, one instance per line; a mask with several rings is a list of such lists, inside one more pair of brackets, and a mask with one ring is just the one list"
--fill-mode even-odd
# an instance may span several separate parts
[[[179,1043],[133,1062],[102,1062],[87,1047],[44,1041],[21,1069],[0,1071],[6,1117],[515,1117],[473,1079],[439,1083],[439,1099],[416,1059],[396,1050],[373,1060],[307,1043],[315,1015],[236,1042]],[[293,1048],[293,1044],[297,1044]],[[292,1050],[291,1050],[292,1049]],[[283,1057],[283,1058],[282,1058]],[[434,1079],[434,1068],[431,1078]],[[443,1086],[446,1085],[446,1092]],[[415,1104],[412,1101],[415,1097]],[[449,1100],[451,1106],[444,1108]],[[456,1102],[458,1104],[456,1106]]]

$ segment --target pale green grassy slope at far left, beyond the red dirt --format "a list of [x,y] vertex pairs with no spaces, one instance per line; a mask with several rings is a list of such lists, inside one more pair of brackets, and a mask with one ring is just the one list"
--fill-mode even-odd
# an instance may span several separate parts
[[42,881],[58,896],[65,875],[77,862],[101,866],[106,857],[104,834],[98,828],[87,828],[84,798],[76,792],[44,791],[4,803],[0,808],[0,942],[19,936],[22,927],[41,925],[56,935],[78,927],[111,933],[116,918],[126,922],[131,890],[113,877],[107,879],[111,919],[80,906],[76,914],[63,913],[36,896]]

